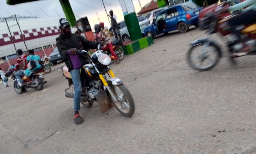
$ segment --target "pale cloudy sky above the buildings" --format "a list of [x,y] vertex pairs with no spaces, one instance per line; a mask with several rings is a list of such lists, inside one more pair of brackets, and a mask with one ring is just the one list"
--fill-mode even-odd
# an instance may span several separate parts
[[[124,20],[121,7],[118,0],[103,0],[107,12],[114,10],[117,15],[117,22]],[[151,0],[133,0],[135,11],[139,12],[140,6],[143,7]],[[110,26],[106,12],[104,10],[102,0],[69,0],[76,19],[87,16],[91,27],[98,24],[99,20],[105,23],[105,26]],[[37,16],[60,18],[65,17],[59,0],[40,0],[18,5],[7,5],[6,0],[0,1],[0,17],[8,17],[13,14],[19,16]],[[98,14],[98,15],[97,15]],[[56,21],[57,23],[58,21]]]

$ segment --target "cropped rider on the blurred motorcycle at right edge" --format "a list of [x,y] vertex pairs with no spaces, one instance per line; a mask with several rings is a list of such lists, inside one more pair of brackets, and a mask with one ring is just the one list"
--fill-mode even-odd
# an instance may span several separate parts
[[[224,2],[224,6],[236,1],[237,0],[228,0]],[[221,13],[224,13],[227,11],[240,10],[245,7],[248,7],[248,8],[243,10],[242,13],[237,14],[228,20],[228,24],[230,26],[231,31],[237,36],[237,42],[243,44],[243,49],[241,50],[241,52],[234,53],[232,57],[243,56],[248,54],[248,51],[250,52],[251,46],[245,45],[246,40],[242,39],[241,33],[240,33],[241,29],[237,29],[237,26],[256,22],[256,18],[255,18],[256,17],[256,0],[246,0],[242,3],[236,4],[227,9],[221,10]]]

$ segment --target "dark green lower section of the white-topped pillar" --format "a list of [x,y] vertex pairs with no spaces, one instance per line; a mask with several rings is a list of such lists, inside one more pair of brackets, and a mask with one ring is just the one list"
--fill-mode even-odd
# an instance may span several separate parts
[[124,21],[132,41],[136,41],[142,38],[139,21],[135,12],[124,15]]

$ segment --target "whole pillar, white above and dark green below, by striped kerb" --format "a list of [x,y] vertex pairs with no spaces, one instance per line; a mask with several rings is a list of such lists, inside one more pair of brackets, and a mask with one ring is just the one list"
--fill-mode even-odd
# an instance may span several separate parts
[[132,0],[119,0],[119,4],[123,11],[124,21],[131,40],[136,41],[142,38],[142,33],[139,27],[139,21],[135,13]]

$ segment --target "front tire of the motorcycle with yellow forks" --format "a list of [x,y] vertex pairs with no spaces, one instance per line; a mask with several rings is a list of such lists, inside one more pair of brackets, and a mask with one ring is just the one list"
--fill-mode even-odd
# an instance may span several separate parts
[[[125,100],[126,100],[126,103],[129,104],[129,111],[128,112],[124,112],[123,111],[123,108],[120,106],[121,104],[118,102],[118,103],[114,103],[117,110],[125,117],[131,117],[133,114],[134,114],[134,111],[135,111],[135,104],[134,104],[134,100],[133,100],[133,97],[132,97],[132,94],[130,93],[130,91],[127,89],[127,87],[124,86],[124,84],[121,84],[121,85],[117,85],[117,87],[121,90],[121,92],[123,93],[124,97],[125,97]],[[115,88],[113,88],[113,93],[114,95],[117,95],[117,92],[115,90]],[[117,96],[118,97],[118,96]],[[111,98],[111,97],[110,97]],[[112,100],[112,98],[111,98]],[[117,99],[118,100],[118,99]],[[114,102],[112,100],[112,102]]]

